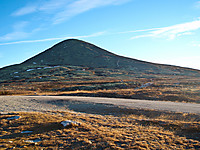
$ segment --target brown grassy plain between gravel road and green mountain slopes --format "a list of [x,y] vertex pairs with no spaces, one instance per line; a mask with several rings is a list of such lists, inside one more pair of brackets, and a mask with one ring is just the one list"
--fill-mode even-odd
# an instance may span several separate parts
[[[140,88],[149,82],[152,83],[151,86]],[[84,95],[200,103],[199,89],[200,79],[195,77],[155,79],[108,77],[92,80],[80,78],[71,81],[2,83],[0,95]]]

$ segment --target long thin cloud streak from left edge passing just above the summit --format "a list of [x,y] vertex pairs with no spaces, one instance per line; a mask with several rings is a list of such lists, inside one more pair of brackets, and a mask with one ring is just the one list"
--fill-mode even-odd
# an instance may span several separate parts
[[16,42],[8,42],[8,43],[0,43],[0,45],[12,45],[12,44],[23,44],[23,43],[37,43],[37,42],[46,42],[46,41],[55,41],[55,40],[65,40],[71,38],[90,38],[97,37],[103,35],[105,32],[97,32],[90,35],[82,35],[82,36],[67,36],[67,37],[58,37],[58,38],[47,38],[41,40],[26,40],[26,41],[16,41]]

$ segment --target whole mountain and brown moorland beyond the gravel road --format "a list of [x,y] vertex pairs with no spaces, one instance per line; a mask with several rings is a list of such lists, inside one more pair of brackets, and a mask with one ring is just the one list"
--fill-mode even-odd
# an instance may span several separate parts
[[0,69],[0,95],[81,95],[200,102],[200,71],[118,56],[69,39]]

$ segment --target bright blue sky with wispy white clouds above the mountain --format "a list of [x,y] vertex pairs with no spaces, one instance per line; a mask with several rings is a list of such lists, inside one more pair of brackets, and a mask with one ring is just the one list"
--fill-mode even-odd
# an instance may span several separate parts
[[200,0],[0,0],[0,67],[77,38],[113,53],[200,69]]

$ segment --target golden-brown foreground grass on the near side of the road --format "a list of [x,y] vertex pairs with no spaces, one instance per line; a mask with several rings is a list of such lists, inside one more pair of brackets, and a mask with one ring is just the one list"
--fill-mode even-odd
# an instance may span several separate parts
[[[133,112],[135,112],[133,114]],[[142,115],[143,114],[143,115]],[[7,120],[11,116],[19,119]],[[131,111],[121,115],[18,112],[0,115],[1,149],[200,149],[195,114]],[[60,122],[81,123],[64,128]],[[33,131],[32,133],[21,133]],[[31,142],[31,140],[37,140]]]

